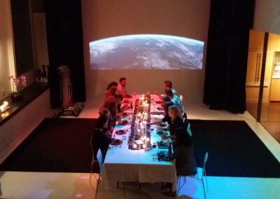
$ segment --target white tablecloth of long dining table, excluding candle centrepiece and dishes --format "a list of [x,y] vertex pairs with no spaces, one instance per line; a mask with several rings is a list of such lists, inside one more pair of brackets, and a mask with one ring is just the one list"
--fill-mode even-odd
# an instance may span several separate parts
[[[173,184],[172,190],[176,191],[176,167],[174,161],[158,160],[158,153],[168,152],[168,149],[159,149],[156,146],[160,142],[161,137],[158,131],[162,130],[160,125],[151,125],[150,141],[154,147],[147,146],[148,149],[132,150],[129,149],[129,137],[132,133],[132,118],[135,114],[135,102],[141,95],[132,95],[129,99],[124,99],[122,106],[129,107],[125,112],[125,116],[121,117],[121,121],[127,121],[126,125],[118,125],[113,130],[115,139],[122,140],[122,144],[118,146],[109,146],[104,160],[102,170],[102,184],[108,190],[109,183],[139,181],[139,183],[149,182],[170,182]],[[164,117],[162,109],[162,99],[158,95],[151,95],[151,123]],[[118,130],[125,131],[124,135],[117,135]],[[166,129],[165,132],[169,133]],[[131,148],[131,147],[130,147]]]

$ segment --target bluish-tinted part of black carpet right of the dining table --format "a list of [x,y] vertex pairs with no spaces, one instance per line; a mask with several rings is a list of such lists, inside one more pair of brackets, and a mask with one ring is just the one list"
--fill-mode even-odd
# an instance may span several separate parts
[[280,163],[245,121],[190,121],[195,158],[207,174],[224,177],[280,177]]

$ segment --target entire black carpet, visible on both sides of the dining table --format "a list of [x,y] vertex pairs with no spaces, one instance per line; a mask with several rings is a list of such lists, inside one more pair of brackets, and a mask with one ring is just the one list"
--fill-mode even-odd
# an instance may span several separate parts
[[[90,172],[96,119],[45,118],[0,165],[1,171]],[[244,121],[191,120],[197,166],[208,151],[207,174],[280,177],[280,163]],[[94,165],[94,172],[99,172]]]

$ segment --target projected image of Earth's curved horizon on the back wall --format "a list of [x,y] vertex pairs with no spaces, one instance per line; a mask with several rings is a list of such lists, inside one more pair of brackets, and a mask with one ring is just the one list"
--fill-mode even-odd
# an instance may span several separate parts
[[90,42],[91,69],[202,69],[204,43],[162,34],[115,36]]

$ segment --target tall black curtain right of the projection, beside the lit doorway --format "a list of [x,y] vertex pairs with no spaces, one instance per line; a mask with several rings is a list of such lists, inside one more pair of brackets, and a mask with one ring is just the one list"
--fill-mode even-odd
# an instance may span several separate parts
[[246,69],[254,0],[211,0],[204,103],[210,109],[246,111]]

